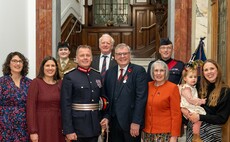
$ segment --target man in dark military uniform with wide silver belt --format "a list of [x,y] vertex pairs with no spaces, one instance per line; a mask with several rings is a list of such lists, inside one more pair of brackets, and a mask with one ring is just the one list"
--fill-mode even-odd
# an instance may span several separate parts
[[97,142],[101,133],[99,100],[103,94],[101,75],[90,68],[92,51],[80,45],[76,51],[78,67],[66,73],[61,88],[63,133],[67,140]]

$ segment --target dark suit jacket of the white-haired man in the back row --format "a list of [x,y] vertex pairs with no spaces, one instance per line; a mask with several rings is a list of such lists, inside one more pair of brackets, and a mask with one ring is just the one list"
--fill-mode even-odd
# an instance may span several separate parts
[[[99,71],[99,63],[100,63],[100,55],[94,56],[93,61],[91,64],[91,67]],[[114,57],[111,55],[110,56],[110,63],[109,63],[109,68],[114,67],[117,65],[117,61],[114,59]]]

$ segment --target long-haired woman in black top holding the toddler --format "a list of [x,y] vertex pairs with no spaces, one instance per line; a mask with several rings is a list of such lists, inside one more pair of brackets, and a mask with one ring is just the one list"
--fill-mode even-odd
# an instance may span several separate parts
[[[186,91],[185,89],[183,93],[186,94]],[[207,114],[189,114],[182,109],[183,114],[190,120],[187,125],[186,141],[192,141],[192,123],[202,121],[200,128],[202,141],[221,142],[222,125],[228,120],[230,112],[230,89],[223,83],[221,68],[214,60],[208,59],[202,66],[199,95],[202,99],[207,98],[203,105]]]

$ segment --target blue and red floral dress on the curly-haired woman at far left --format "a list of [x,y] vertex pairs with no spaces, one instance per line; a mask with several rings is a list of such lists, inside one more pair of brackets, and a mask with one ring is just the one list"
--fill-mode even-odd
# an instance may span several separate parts
[[0,142],[27,142],[26,98],[31,79],[18,88],[9,75],[0,77]]

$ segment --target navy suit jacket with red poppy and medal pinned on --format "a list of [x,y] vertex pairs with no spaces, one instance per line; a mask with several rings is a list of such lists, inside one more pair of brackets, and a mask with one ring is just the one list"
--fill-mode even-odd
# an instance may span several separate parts
[[118,65],[107,70],[105,94],[109,99],[109,109],[105,118],[117,117],[124,131],[130,130],[131,123],[143,128],[145,104],[147,101],[146,71],[142,66],[129,64],[121,81],[117,80]]

